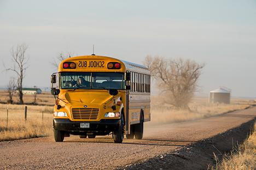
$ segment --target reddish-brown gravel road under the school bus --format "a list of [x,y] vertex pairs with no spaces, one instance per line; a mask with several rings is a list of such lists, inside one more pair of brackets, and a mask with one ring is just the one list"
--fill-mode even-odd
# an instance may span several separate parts
[[142,140],[124,139],[113,143],[109,137],[53,137],[0,142],[1,169],[113,169],[170,153],[201,139],[224,132],[256,117],[256,107],[222,116],[185,123],[150,126]]

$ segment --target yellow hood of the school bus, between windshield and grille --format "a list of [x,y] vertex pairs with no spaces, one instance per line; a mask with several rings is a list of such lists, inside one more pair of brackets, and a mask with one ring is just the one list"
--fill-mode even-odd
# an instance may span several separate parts
[[85,105],[101,105],[108,100],[112,99],[112,95],[107,90],[86,90],[77,92],[66,92],[62,96],[65,96],[69,104],[85,104]]

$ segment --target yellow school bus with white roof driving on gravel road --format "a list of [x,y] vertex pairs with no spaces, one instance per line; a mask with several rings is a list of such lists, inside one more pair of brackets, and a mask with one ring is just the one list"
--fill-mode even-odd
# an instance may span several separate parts
[[111,135],[115,143],[142,139],[150,121],[150,72],[146,66],[104,56],[63,60],[51,75],[56,142],[65,137]]

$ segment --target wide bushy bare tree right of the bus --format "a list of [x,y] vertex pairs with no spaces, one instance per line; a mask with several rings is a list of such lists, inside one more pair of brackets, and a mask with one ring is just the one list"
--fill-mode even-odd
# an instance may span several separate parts
[[158,56],[147,56],[144,64],[148,66],[162,94],[166,95],[165,102],[189,109],[188,104],[196,91],[204,64],[189,59],[166,59]]

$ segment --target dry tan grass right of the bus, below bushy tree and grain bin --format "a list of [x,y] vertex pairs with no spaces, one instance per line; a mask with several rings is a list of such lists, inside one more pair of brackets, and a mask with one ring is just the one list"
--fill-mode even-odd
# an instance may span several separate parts
[[151,120],[147,125],[186,122],[216,116],[226,112],[245,109],[254,104],[254,101],[234,99],[231,104],[210,104],[207,98],[194,98],[189,110],[178,110],[171,105],[163,104],[163,99],[153,96],[151,107]]

